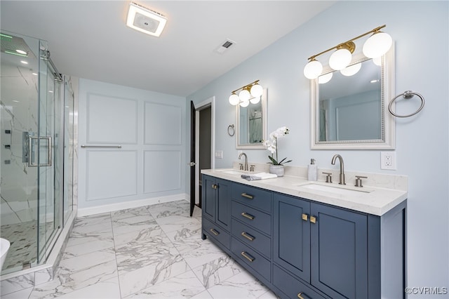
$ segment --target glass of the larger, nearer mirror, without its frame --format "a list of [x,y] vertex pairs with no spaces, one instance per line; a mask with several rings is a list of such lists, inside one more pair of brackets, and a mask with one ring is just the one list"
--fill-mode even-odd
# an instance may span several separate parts
[[353,65],[360,67],[356,74],[333,72],[319,84],[319,141],[382,139],[380,65],[372,60]]

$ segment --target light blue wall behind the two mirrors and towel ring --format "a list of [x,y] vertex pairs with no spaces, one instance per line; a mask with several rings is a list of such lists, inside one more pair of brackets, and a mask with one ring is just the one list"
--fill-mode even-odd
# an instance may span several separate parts
[[[215,95],[215,150],[223,150],[216,168],[237,159],[234,137],[227,135],[227,126],[235,124],[229,94],[260,79],[268,90],[268,132],[290,128],[279,150],[293,159],[291,165],[305,166],[313,157],[319,167],[333,168],[331,157],[340,152],[347,170],[408,175],[407,284],[449,287],[448,6],[448,1],[338,2],[190,95],[194,102]],[[384,24],[396,45],[396,94],[413,90],[427,100],[416,117],[396,119],[397,171],[382,171],[376,150],[310,150],[309,80],[302,74],[309,56]],[[267,161],[266,150],[246,152],[250,161]]]

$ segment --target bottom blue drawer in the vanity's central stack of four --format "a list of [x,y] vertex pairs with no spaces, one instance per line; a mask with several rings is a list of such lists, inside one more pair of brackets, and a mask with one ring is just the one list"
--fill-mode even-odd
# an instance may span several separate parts
[[249,246],[241,243],[241,241],[232,237],[231,240],[231,251],[239,260],[242,260],[243,263],[253,268],[255,272],[262,275],[268,281],[271,281],[271,263],[269,260],[264,258],[262,255],[254,251]]

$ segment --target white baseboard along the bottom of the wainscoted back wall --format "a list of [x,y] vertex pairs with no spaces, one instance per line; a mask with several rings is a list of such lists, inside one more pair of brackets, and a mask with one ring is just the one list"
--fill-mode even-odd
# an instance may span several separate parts
[[108,213],[114,211],[124,210],[126,208],[138,208],[140,206],[150,206],[152,204],[162,204],[164,202],[177,201],[177,200],[186,200],[189,197],[188,194],[175,194],[169,195],[166,197],[154,197],[151,199],[139,199],[135,201],[124,201],[116,204],[105,204],[102,206],[93,206],[90,208],[79,208],[78,209],[78,217],[95,215],[100,213]]

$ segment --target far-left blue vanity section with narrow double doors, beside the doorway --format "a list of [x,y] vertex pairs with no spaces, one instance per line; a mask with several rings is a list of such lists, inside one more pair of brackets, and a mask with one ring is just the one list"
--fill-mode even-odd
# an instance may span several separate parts
[[231,182],[203,175],[202,189],[202,239],[213,238],[229,249]]

